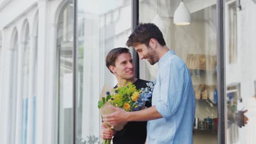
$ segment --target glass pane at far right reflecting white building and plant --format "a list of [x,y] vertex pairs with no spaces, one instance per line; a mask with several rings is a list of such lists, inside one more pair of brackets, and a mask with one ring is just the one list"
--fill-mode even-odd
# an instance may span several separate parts
[[254,143],[256,110],[255,1],[225,2],[226,143]]

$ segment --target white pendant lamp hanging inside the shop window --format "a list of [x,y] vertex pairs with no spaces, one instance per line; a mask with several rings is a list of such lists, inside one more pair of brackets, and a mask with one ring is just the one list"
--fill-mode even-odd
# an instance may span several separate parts
[[189,25],[190,22],[190,12],[182,0],[181,3],[179,4],[179,7],[174,12],[173,23],[175,25],[184,26]]

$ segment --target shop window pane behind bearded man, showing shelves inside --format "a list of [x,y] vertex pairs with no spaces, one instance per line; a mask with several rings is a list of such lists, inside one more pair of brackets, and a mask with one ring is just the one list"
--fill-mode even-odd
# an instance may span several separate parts
[[[216,2],[184,1],[191,13],[187,26],[173,24],[181,1],[140,1],[139,22],[153,22],[164,34],[166,46],[183,59],[190,70],[196,97],[194,143],[217,143],[217,30]],[[140,61],[140,77],[156,79],[158,65]]]

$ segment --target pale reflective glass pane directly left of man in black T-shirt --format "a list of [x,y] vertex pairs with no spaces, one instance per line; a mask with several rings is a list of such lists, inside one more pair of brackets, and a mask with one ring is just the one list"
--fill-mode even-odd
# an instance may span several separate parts
[[131,34],[131,1],[78,0],[77,143],[100,142],[97,108],[101,88],[117,84],[105,64],[107,53],[126,47]]

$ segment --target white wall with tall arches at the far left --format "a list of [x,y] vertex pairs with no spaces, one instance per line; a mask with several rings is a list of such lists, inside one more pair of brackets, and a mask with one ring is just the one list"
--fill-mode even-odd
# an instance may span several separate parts
[[[63,5],[66,1],[46,1],[46,0],[11,0],[9,3],[1,3],[0,1],[0,31],[2,31],[3,43],[2,43],[2,55],[1,57],[1,72],[0,72],[0,95],[1,95],[1,109],[0,113],[3,118],[0,119],[0,143],[9,144],[9,135],[8,135],[8,117],[10,113],[8,113],[9,99],[10,93],[8,89],[12,86],[9,85],[8,75],[10,74],[10,56],[13,53],[10,50],[11,38],[13,37],[12,32],[14,27],[18,30],[18,44],[19,49],[17,50],[20,53],[22,48],[22,35],[24,32],[23,22],[24,20],[28,20],[28,25],[30,28],[30,48],[35,49],[38,35],[38,77],[37,77],[37,87],[35,85],[31,85],[30,78],[30,88],[29,89],[37,89],[36,94],[36,143],[56,143],[54,139],[55,135],[55,118],[56,113],[54,110],[57,108],[54,105],[55,101],[55,61],[56,61],[56,22],[59,17],[59,13]],[[38,11],[38,12],[37,12]],[[38,19],[36,18],[38,17]],[[36,32],[37,21],[39,23],[39,31],[38,34]],[[8,54],[10,53],[10,54]],[[22,60],[22,55],[20,55],[20,60]],[[33,57],[31,57],[33,58]],[[30,59],[31,61],[31,59]],[[18,63],[22,64],[22,63]],[[21,68],[21,65],[18,65]],[[30,72],[35,73],[35,72]],[[33,78],[34,79],[34,78]],[[21,97],[21,74],[18,71],[18,98]],[[30,93],[33,94],[33,93]],[[34,95],[33,95],[34,96]],[[33,103],[30,102],[31,96],[28,95],[28,121],[33,117]],[[4,101],[4,102],[3,102]],[[19,103],[22,103],[22,99],[18,99]],[[16,106],[22,106],[22,104],[16,104]],[[21,142],[21,110],[17,109],[16,111],[16,143]],[[33,123],[28,123],[28,125]],[[33,130],[33,125],[28,126],[27,133],[31,134],[31,130]],[[27,136],[27,143],[33,143],[32,135]]]

